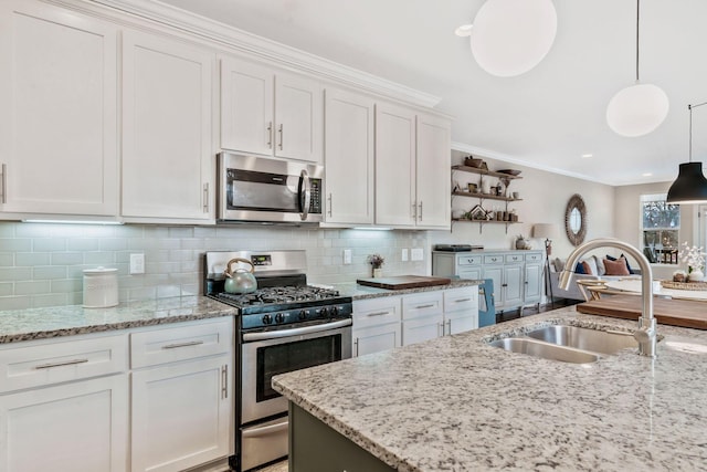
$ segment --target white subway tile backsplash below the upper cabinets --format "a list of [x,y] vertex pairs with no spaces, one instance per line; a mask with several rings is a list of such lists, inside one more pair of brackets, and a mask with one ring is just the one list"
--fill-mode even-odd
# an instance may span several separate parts
[[[425,232],[0,222],[0,310],[82,304],[83,270],[98,265],[118,269],[122,302],[200,294],[205,251],[305,249],[310,283],[370,276],[372,253],[386,258],[386,275],[425,274],[424,262],[399,261],[397,248],[413,247],[429,251]],[[341,264],[341,249],[351,249],[351,264]],[[145,274],[128,274],[135,252]]]

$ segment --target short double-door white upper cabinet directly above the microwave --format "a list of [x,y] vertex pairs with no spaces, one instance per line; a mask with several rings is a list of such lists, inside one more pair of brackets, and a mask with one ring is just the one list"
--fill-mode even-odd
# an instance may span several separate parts
[[221,59],[221,147],[320,162],[319,82],[234,57]]

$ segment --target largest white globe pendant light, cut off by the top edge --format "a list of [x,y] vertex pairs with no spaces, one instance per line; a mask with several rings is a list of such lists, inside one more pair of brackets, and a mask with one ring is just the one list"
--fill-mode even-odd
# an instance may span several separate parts
[[557,12],[552,0],[486,0],[474,24],[455,33],[469,36],[472,54],[484,71],[510,77],[528,72],[550,51]]

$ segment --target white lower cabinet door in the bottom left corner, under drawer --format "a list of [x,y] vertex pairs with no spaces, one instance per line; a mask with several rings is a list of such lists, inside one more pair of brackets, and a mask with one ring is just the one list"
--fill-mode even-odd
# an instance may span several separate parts
[[128,470],[126,375],[25,390],[0,400],[0,470]]

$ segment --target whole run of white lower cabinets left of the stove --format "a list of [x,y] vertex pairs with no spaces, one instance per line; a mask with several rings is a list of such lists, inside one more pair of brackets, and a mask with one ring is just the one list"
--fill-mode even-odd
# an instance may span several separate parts
[[183,471],[233,453],[232,317],[118,333],[0,344],[0,471]]

